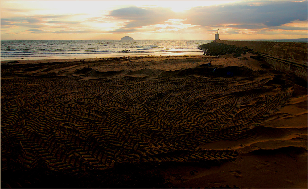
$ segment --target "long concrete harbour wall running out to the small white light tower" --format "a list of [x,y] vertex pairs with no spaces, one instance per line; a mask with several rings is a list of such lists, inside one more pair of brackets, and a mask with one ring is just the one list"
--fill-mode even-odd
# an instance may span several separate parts
[[308,43],[227,40],[214,42],[251,48],[258,51],[273,68],[293,73],[307,81]]

